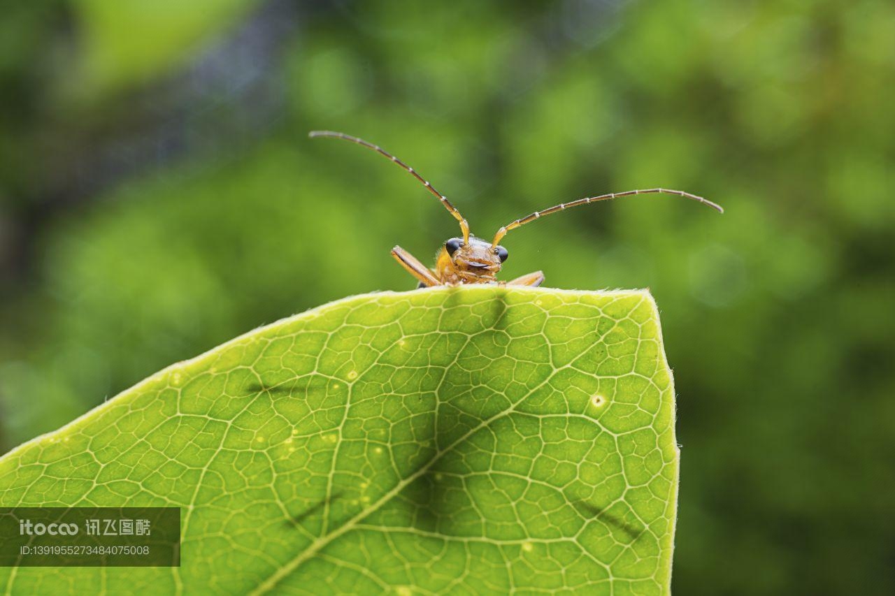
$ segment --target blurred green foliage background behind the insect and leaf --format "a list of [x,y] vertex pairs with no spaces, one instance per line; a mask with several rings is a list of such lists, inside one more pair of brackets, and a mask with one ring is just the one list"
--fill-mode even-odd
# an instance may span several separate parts
[[68,0],[0,20],[0,452],[261,324],[506,277],[652,288],[678,388],[680,594],[895,574],[895,4]]

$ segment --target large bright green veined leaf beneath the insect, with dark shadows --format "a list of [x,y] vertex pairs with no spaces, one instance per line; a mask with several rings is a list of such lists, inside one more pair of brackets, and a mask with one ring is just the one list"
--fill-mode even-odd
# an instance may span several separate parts
[[333,302],[0,459],[3,507],[182,507],[180,568],[5,568],[0,588],[667,592],[673,396],[645,291]]

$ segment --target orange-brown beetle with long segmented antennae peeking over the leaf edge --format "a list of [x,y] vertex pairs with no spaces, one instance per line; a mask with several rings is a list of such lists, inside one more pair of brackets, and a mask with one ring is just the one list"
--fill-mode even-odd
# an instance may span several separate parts
[[596,197],[585,197],[584,199],[560,203],[550,209],[544,209],[543,211],[535,211],[530,215],[516,219],[516,221],[507,224],[507,226],[501,226],[497,233],[494,234],[494,238],[488,242],[487,240],[476,238],[470,234],[469,224],[466,223],[465,218],[460,215],[460,211],[447,200],[447,197],[436,191],[435,187],[423,178],[422,175],[419,175],[413,167],[407,166],[403,161],[388,153],[388,151],[382,149],[379,145],[374,145],[366,140],[358,139],[357,137],[353,137],[343,132],[312,131],[309,133],[309,136],[311,138],[329,137],[333,139],[350,140],[351,142],[362,145],[368,149],[373,149],[380,155],[395,162],[398,166],[403,167],[410,173],[410,175],[413,175],[414,178],[419,180],[429,192],[438,197],[441,204],[445,206],[445,209],[447,209],[447,211],[460,223],[460,231],[463,235],[457,236],[456,238],[450,238],[441,246],[435,260],[435,268],[426,267],[420,260],[400,246],[396,246],[392,249],[392,256],[395,257],[395,260],[397,260],[401,267],[405,268],[410,275],[416,277],[419,281],[419,287],[461,284],[541,285],[544,281],[544,274],[542,271],[534,271],[533,273],[529,273],[522,277],[516,277],[516,279],[508,282],[499,282],[497,280],[500,268],[507,260],[507,249],[500,245],[500,241],[510,230],[515,230],[517,227],[524,226],[525,224],[533,222],[535,219],[550,215],[551,213],[557,213],[558,211],[578,207],[579,205],[596,202],[598,200],[616,199],[618,197],[627,197],[635,194],[673,194],[686,199],[697,200],[703,203],[703,205],[708,205],[712,209],[724,213],[724,209],[721,209],[720,205],[713,203],[711,200],[703,199],[703,197],[697,197],[695,194],[690,194],[689,192],[671,191],[663,188],[651,188],[643,191],[611,192]]

